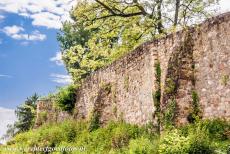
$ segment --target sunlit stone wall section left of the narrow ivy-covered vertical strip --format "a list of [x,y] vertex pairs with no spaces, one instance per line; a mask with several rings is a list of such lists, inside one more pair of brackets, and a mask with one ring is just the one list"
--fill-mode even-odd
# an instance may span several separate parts
[[119,118],[138,124],[152,121],[155,56],[146,43],[89,76],[78,90],[77,117],[89,118],[100,104],[101,123]]

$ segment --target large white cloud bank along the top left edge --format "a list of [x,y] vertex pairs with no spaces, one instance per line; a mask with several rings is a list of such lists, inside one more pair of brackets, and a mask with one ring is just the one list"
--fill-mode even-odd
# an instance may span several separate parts
[[77,0],[1,0],[0,10],[31,18],[35,26],[61,28],[61,22],[70,20],[69,11]]

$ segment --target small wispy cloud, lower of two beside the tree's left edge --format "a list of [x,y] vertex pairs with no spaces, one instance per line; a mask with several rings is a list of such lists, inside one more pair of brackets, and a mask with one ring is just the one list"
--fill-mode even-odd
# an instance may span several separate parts
[[73,82],[71,76],[64,74],[51,74],[51,80],[56,83],[70,84]]

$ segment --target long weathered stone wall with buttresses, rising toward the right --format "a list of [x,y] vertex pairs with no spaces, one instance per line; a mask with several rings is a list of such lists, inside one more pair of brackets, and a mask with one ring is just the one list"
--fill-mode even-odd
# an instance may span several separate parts
[[[203,118],[230,119],[230,13],[140,47],[91,74],[77,92],[74,118],[156,123],[155,64],[161,67],[162,114],[176,102],[176,124],[186,123],[198,103]],[[194,101],[194,94],[199,101]]]

